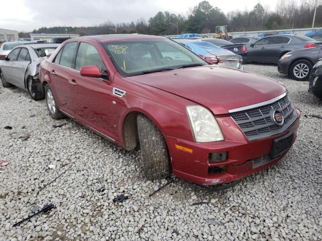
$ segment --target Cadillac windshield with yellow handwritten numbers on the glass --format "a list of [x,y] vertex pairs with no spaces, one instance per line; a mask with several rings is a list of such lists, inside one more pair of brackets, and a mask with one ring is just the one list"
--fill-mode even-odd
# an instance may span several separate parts
[[169,39],[106,42],[103,46],[123,76],[208,64]]

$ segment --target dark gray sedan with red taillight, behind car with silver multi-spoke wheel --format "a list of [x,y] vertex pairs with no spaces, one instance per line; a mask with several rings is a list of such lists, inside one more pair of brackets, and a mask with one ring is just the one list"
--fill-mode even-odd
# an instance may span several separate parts
[[248,62],[277,63],[286,53],[297,49],[315,47],[317,41],[300,35],[284,34],[262,38],[251,44]]

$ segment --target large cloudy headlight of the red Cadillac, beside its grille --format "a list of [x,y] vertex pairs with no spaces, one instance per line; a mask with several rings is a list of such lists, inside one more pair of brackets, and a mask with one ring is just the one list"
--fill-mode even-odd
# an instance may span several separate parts
[[196,142],[223,141],[223,135],[213,114],[201,105],[186,107]]

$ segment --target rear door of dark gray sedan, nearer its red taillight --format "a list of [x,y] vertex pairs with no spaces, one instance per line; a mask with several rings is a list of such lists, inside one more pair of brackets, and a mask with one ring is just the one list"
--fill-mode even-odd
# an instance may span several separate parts
[[272,36],[270,38],[269,45],[265,49],[265,57],[268,62],[277,63],[291,39],[284,36]]

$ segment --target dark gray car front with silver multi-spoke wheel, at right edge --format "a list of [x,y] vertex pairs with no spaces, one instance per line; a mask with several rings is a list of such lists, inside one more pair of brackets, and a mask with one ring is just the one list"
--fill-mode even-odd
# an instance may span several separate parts
[[278,72],[289,74],[295,80],[307,80],[313,65],[322,58],[322,43],[317,47],[299,49],[286,53],[278,61]]

